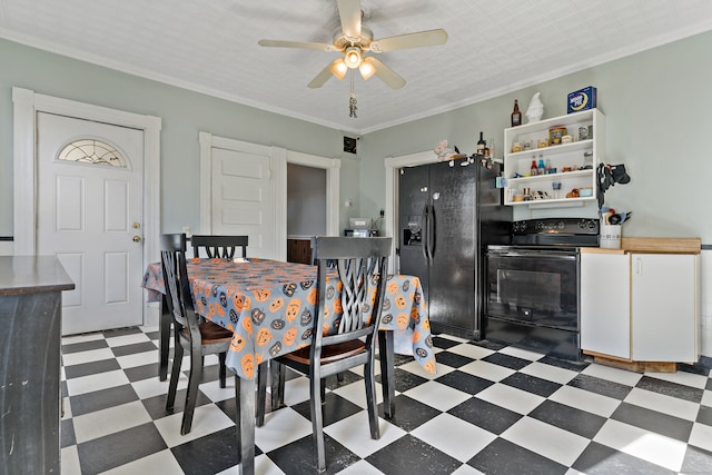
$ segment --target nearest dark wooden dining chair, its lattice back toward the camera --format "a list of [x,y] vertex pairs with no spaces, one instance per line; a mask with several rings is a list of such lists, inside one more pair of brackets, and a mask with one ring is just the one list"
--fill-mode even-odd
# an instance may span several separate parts
[[[370,436],[380,437],[376,408],[376,382],[374,359],[376,333],[380,323],[386,269],[390,255],[390,238],[317,237],[314,253],[317,265],[318,298],[313,319],[312,345],[271,359],[277,380],[273,379],[273,392],[284,400],[285,366],[309,377],[312,426],[317,469],[326,469],[323,413],[324,382],[349,368],[364,366],[368,424]],[[333,266],[333,267],[330,267]],[[343,314],[333,324],[334,334],[325,335],[324,318],[327,298],[340,287]],[[328,309],[334,313],[334,308]],[[276,389],[275,389],[275,386]],[[258,388],[259,410],[265,407],[265,393]]]

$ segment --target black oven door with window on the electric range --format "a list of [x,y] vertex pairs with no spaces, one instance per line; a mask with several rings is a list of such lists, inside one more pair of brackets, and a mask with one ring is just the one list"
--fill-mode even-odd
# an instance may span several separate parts
[[578,330],[578,253],[491,246],[487,317]]

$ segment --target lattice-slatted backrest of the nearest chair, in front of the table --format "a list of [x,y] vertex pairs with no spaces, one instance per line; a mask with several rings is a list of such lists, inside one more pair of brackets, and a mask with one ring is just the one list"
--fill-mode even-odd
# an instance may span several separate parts
[[[362,336],[373,338],[380,323],[383,290],[390,254],[390,238],[317,237],[314,240],[318,304],[316,308],[313,352],[325,344],[326,301],[340,287],[340,310],[335,343]],[[336,273],[332,266],[336,267]],[[338,281],[335,281],[336,275]],[[328,283],[327,283],[328,276]],[[370,343],[370,342],[369,342]]]

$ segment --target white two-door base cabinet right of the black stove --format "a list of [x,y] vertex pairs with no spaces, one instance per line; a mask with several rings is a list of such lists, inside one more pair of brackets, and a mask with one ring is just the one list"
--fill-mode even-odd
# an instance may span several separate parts
[[582,253],[584,353],[696,362],[699,271],[695,254]]

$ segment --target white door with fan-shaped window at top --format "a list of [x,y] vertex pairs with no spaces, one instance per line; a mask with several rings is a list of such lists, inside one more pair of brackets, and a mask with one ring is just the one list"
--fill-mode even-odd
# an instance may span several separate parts
[[76,285],[62,334],[142,324],[144,131],[46,112],[37,130],[37,250]]

